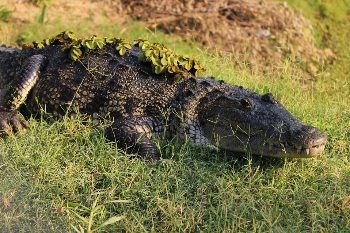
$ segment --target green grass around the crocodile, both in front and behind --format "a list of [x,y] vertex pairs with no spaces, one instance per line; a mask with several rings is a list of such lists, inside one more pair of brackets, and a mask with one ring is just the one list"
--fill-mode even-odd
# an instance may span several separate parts
[[[303,2],[293,4],[306,13],[315,9]],[[322,25],[324,20],[338,25],[337,20],[307,15]],[[14,43],[19,35],[24,42],[43,39],[66,29],[80,35],[118,35],[125,27],[105,19],[72,22],[68,28],[63,20],[47,16],[48,23],[17,25],[0,42]],[[274,93],[301,120],[327,132],[325,154],[278,160],[161,141],[164,159],[149,163],[118,150],[79,119],[31,119],[29,130],[0,141],[2,232],[349,231],[350,46],[343,34],[331,34],[327,42],[332,48],[343,46],[338,63],[302,85],[293,64],[286,63],[274,75],[250,74],[195,43],[139,23],[127,28],[126,38],[143,37],[196,55],[218,79]],[[347,33],[343,26],[334,30]],[[113,224],[103,226],[108,219]]]

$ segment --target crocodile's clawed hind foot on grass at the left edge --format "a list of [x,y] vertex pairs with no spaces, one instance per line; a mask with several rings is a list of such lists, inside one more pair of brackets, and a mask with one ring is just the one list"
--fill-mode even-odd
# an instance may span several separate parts
[[0,111],[0,137],[9,135],[11,132],[17,133],[28,128],[27,122],[16,112]]

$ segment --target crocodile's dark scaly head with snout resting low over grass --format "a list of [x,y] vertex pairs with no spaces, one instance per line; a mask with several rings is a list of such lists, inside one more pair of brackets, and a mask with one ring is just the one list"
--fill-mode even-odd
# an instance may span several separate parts
[[204,135],[229,151],[309,158],[320,155],[327,141],[320,130],[301,123],[270,93],[230,87],[209,93],[197,110]]

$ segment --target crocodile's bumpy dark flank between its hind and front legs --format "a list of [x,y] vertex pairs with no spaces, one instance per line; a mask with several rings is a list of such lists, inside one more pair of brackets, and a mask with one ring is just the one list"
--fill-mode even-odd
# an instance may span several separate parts
[[48,61],[28,99],[32,111],[44,108],[57,117],[67,110],[93,118],[159,115],[179,92],[178,84],[138,61],[137,48],[120,56],[106,46],[78,61],[70,60],[60,46],[35,52]]

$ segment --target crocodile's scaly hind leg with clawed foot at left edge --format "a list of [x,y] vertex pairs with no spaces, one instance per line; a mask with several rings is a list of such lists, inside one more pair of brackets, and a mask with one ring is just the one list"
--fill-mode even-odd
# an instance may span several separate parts
[[17,110],[38,81],[44,61],[43,55],[33,55],[27,58],[19,75],[7,89],[1,90],[0,136],[7,135],[11,130],[17,132],[27,127],[26,122],[19,117]]

